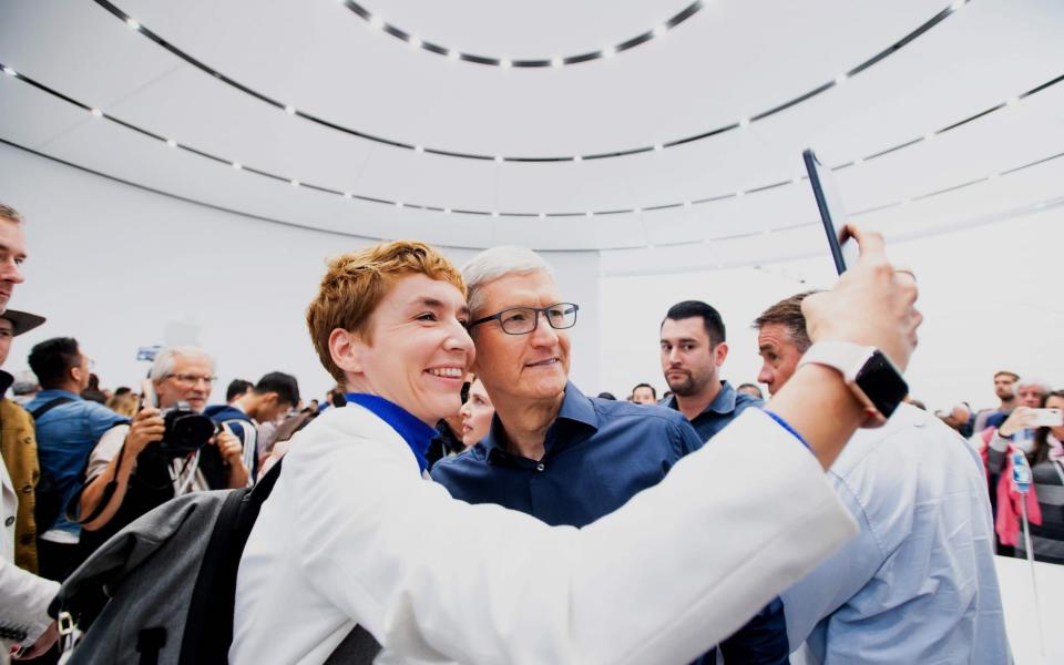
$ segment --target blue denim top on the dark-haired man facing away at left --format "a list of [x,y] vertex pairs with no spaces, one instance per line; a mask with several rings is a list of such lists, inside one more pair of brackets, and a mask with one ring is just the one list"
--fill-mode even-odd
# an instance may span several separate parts
[[96,441],[103,432],[129,419],[69,390],[41,390],[25,405],[25,410],[33,412],[58,397],[71,401],[49,409],[37,420],[37,451],[41,460],[37,493],[58,493],[60,513],[53,524],[37,526],[42,534],[51,529],[78,534],[81,528],[66,519],[66,503],[81,487],[81,474]]

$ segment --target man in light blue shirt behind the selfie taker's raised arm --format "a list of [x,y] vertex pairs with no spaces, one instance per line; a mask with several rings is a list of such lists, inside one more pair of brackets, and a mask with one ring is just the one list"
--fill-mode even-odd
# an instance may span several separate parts
[[[775,393],[809,347],[799,294],[754,326]],[[901,405],[858,430],[828,472],[856,540],[782,594],[812,663],[1011,663],[982,464],[953,430]],[[796,661],[797,662],[797,661]]]

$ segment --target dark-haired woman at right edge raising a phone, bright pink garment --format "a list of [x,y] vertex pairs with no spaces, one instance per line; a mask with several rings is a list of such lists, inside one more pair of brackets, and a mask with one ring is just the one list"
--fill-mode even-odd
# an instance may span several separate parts
[[[1054,390],[1042,398],[1042,408],[1064,410],[1064,390]],[[1001,483],[1006,483],[1005,491],[1010,497],[1005,501],[1006,508],[1019,505],[1022,500],[1016,495],[1012,483],[1010,454],[1020,450],[1027,458],[1031,467],[1031,490],[1027,501],[1027,516],[1031,523],[1031,548],[1036,561],[1047,563],[1064,563],[1064,426],[1040,427],[1034,430],[1030,443],[1013,442],[1005,447],[999,440],[1014,436],[1033,422],[1034,411],[1026,407],[1017,407],[1002,424],[1001,429],[990,434],[986,447],[986,466],[991,472],[1001,473]],[[1015,536],[1016,556],[1026,557],[1026,542],[1022,535],[1023,525],[1015,514],[1019,509],[1006,510],[1001,513],[1002,489],[999,488],[999,535],[1003,529]],[[1003,519],[1004,518],[1004,519]]]

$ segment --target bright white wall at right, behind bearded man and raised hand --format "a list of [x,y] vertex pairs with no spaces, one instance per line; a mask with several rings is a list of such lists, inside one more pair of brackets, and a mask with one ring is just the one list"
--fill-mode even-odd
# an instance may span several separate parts
[[[771,242],[771,238],[763,238]],[[1060,295],[1064,208],[1050,207],[995,224],[889,242],[897,265],[919,276],[925,323],[908,379],[929,408],[956,400],[996,403],[992,375],[1012,369],[1064,387],[1064,300]],[[728,327],[724,377],[754,381],[760,367],[753,319],[768,305],[833,280],[829,259],[602,280],[600,389],[618,396],[640,381],[665,388],[658,325],[683,299],[717,307]],[[608,264],[610,258],[604,258]],[[805,279],[805,283],[801,280]]]

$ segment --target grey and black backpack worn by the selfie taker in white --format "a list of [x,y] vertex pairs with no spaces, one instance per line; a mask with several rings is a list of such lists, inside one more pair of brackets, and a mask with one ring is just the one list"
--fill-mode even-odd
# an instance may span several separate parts
[[[227,663],[241,555],[279,474],[280,462],[254,488],[173,499],[96,550],[49,608],[85,632],[68,663]],[[356,626],[327,663],[368,664],[379,652]]]

